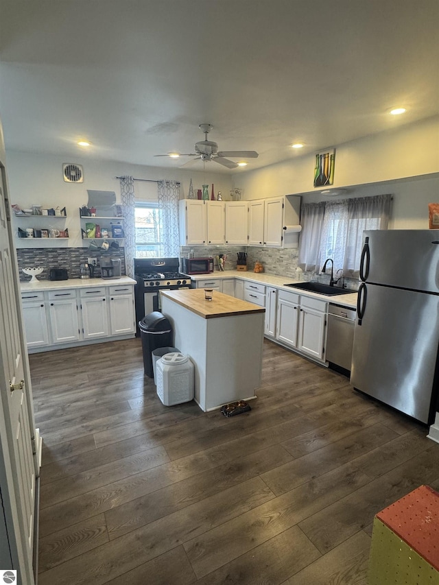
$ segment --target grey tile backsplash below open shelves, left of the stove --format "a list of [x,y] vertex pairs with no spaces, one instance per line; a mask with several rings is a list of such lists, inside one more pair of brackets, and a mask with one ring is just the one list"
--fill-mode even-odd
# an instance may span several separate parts
[[[101,276],[99,257],[103,254],[91,252],[88,248],[19,248],[16,250],[16,255],[19,263],[20,280],[23,283],[30,280],[31,277],[24,274],[21,269],[34,266],[43,266],[44,268],[43,272],[38,276],[38,280],[49,280],[49,270],[51,268],[67,268],[69,278],[79,278],[80,264],[91,257],[97,258],[98,261],[95,276]],[[111,254],[105,255],[120,258],[121,272],[126,274],[124,248],[112,250]]]

